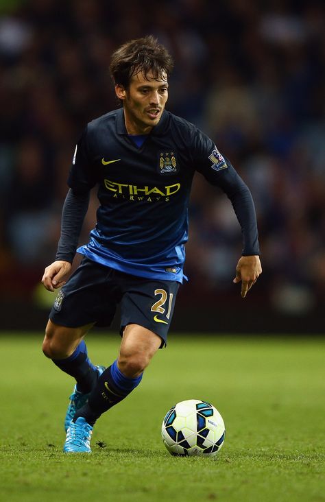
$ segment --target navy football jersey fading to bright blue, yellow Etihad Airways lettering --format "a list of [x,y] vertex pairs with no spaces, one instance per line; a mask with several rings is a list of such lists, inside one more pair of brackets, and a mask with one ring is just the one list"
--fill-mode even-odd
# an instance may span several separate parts
[[97,184],[100,202],[90,240],[77,251],[128,274],[182,282],[195,171],[227,193],[243,230],[243,254],[258,254],[250,192],[213,141],[165,110],[138,147],[123,108],[89,123],[77,143],[69,187],[84,195]]

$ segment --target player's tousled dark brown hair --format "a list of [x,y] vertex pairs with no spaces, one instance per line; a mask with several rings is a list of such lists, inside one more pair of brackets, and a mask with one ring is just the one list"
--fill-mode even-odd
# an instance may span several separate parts
[[167,77],[173,69],[171,58],[166,47],[158,43],[152,35],[130,40],[114,53],[110,62],[110,75],[115,84],[128,88],[132,75],[142,73],[146,77],[149,71],[155,80],[160,80],[163,74]]

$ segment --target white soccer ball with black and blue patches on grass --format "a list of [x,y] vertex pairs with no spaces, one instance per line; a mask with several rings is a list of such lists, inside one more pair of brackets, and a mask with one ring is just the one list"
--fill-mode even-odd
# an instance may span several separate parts
[[224,420],[213,405],[199,399],[181,401],[169,409],[161,426],[171,455],[216,455],[224,444]]

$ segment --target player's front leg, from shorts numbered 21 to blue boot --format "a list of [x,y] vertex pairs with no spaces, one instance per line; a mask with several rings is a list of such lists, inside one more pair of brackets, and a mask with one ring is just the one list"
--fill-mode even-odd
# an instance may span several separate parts
[[178,283],[150,281],[126,274],[117,277],[117,282],[122,293],[123,327],[119,357],[101,374],[88,402],[71,420],[64,444],[66,452],[91,452],[91,432],[97,418],[139,385],[143,370],[158,348],[166,343]]

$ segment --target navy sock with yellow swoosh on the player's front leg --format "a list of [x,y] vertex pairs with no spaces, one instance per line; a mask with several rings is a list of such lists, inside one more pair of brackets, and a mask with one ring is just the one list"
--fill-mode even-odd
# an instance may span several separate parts
[[89,396],[88,403],[77,410],[73,420],[83,416],[88,424],[94,425],[104,411],[117,405],[128,396],[139,385],[142,377],[143,374],[135,379],[125,377],[117,367],[117,361],[114,361],[112,366],[101,374],[97,385]]

